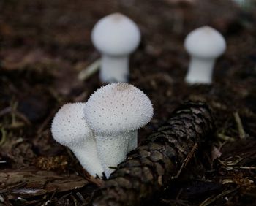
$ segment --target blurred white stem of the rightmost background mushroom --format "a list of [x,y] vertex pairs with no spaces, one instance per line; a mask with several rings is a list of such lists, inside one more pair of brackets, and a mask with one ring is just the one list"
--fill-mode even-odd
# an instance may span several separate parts
[[186,82],[190,84],[203,83],[211,84],[212,72],[214,69],[215,59],[192,57],[189,63]]

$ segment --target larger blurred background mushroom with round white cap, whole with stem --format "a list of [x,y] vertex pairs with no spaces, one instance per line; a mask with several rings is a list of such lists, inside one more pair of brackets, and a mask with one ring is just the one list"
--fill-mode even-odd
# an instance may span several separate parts
[[129,54],[140,43],[140,30],[127,16],[114,13],[99,20],[91,39],[102,53],[99,78],[103,83],[127,82]]

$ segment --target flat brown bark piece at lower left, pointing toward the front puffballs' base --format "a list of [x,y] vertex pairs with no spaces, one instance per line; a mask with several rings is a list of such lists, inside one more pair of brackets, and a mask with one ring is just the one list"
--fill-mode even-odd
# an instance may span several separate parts
[[0,194],[7,194],[9,199],[72,191],[88,184],[88,180],[75,174],[59,175],[53,171],[38,169],[2,169],[0,171]]

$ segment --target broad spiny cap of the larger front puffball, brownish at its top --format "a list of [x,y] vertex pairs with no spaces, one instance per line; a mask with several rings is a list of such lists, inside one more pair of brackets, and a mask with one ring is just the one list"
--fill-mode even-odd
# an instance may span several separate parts
[[150,99],[127,83],[99,88],[86,102],[86,120],[96,134],[121,134],[139,129],[153,116]]

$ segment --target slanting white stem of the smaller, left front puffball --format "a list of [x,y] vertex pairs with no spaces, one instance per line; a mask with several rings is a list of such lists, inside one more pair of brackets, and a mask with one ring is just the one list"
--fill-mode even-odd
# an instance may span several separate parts
[[89,137],[86,139],[86,142],[80,142],[79,147],[70,149],[90,175],[102,177],[103,167],[99,162],[94,137]]

